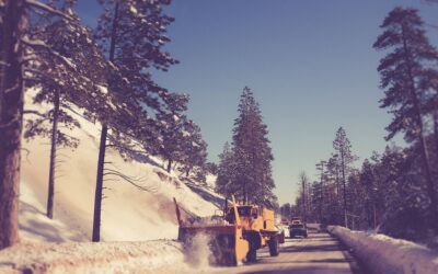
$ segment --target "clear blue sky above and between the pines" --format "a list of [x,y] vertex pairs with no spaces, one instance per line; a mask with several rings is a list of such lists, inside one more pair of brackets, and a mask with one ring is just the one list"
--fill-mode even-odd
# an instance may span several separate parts
[[[280,204],[291,203],[300,171],[316,178],[314,164],[330,157],[339,126],[358,164],[384,149],[391,116],[379,109],[382,53],[372,43],[395,5],[417,8],[438,25],[438,4],[423,0],[174,0],[166,49],[181,64],[155,80],[191,95],[188,114],[215,162],[249,85],[269,128],[275,193]],[[94,24],[100,10],[79,0],[79,12]],[[438,45],[438,30],[428,35]]]

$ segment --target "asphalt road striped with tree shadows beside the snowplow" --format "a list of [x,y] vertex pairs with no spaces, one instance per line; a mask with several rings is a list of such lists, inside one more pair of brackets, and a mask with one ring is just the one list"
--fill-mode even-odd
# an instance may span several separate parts
[[256,263],[220,267],[218,273],[365,274],[348,250],[327,233],[286,239],[278,256],[269,256],[268,250],[262,249]]

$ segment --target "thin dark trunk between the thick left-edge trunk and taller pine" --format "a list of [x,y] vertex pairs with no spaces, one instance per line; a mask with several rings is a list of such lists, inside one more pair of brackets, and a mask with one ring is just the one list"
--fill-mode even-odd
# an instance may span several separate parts
[[54,218],[56,142],[58,139],[59,91],[54,94],[54,124],[51,126],[50,162],[48,170],[47,217]]

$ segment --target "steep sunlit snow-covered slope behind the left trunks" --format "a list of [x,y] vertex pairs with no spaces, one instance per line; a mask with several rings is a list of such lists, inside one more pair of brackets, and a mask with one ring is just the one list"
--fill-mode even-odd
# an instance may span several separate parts
[[[100,126],[77,117],[81,128],[74,129],[72,135],[80,139],[79,147],[74,151],[58,151],[55,220],[44,217],[48,140],[23,141],[20,228],[24,238],[50,241],[88,241],[91,238]],[[157,159],[139,159],[125,161],[116,151],[107,150],[106,161],[111,163],[106,168],[141,178],[139,184],[150,192],[140,191],[114,175],[106,176],[101,228],[104,241],[175,239],[177,224],[173,197],[191,214],[208,216],[215,213],[216,205],[175,175],[166,173]]]

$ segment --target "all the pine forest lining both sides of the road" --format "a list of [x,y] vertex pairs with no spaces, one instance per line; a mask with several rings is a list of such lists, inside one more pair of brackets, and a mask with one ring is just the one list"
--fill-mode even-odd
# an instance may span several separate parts
[[[180,62],[164,49],[174,19],[163,10],[171,1],[99,3],[99,22],[90,27],[74,0],[0,0],[0,249],[19,240],[22,137],[50,144],[46,215],[54,218],[59,149],[74,150],[80,142],[71,135],[80,127],[72,114],[100,130],[92,241],[101,240],[105,176],[150,191],[108,164],[110,149],[126,161],[158,156],[169,173],[198,181],[215,174],[215,191],[226,198],[278,208],[269,132],[253,91],[243,88],[231,142],[218,164],[208,162],[201,129],[188,115],[189,95],[153,79],[152,71]],[[297,199],[279,212],[436,247],[438,50],[418,10],[400,7],[383,20],[372,47],[382,54],[382,98],[376,103],[392,117],[385,150],[359,159],[346,129],[334,128],[333,152],[315,161],[318,179],[301,173]],[[24,109],[25,100],[35,107]],[[390,142],[397,136],[403,145]]]

